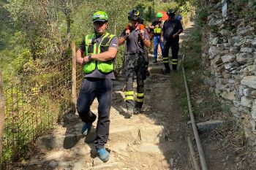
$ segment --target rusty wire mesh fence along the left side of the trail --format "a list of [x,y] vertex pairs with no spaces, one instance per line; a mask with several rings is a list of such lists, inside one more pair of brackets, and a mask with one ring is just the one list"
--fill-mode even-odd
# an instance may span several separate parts
[[[81,78],[79,74],[78,85]],[[17,165],[37,145],[39,135],[71,112],[71,89],[71,58],[4,88],[3,169]]]

